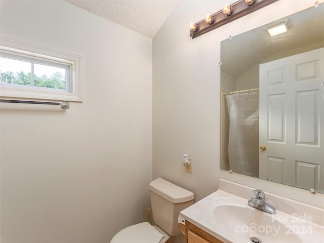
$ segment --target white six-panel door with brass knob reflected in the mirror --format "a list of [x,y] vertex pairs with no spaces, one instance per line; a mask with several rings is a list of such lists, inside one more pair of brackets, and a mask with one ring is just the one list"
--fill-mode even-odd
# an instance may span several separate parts
[[324,192],[324,48],[260,65],[260,178]]

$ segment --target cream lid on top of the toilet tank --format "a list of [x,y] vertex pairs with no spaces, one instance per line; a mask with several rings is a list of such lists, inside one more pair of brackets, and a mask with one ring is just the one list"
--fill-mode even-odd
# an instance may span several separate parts
[[149,189],[171,201],[184,203],[194,198],[193,193],[162,178],[157,178],[149,184]]

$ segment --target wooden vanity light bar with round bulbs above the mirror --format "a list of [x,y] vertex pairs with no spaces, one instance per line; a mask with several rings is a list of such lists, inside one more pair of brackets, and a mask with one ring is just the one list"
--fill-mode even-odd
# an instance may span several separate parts
[[225,6],[215,14],[208,14],[198,22],[191,22],[190,37],[198,37],[277,1],[279,0],[238,0],[231,5]]

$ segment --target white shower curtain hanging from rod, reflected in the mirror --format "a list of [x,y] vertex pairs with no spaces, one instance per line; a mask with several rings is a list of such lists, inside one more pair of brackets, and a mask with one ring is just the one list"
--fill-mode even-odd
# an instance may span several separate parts
[[259,93],[227,95],[229,168],[259,177]]

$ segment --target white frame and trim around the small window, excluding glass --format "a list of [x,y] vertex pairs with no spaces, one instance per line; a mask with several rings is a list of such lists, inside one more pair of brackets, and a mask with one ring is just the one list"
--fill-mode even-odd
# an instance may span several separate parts
[[15,84],[0,83],[1,98],[19,99],[41,99],[82,102],[82,57],[36,46],[14,39],[0,37],[0,52],[4,57],[11,57],[15,60],[35,61],[38,64],[50,64],[51,66],[65,66],[70,70],[67,72],[66,89],[51,89],[35,86],[24,86]]

